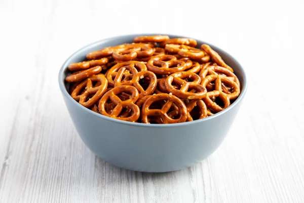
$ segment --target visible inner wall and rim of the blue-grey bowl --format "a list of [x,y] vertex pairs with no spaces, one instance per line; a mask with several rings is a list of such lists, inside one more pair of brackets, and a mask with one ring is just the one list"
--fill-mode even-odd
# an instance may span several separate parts
[[[120,44],[124,44],[124,43],[132,43],[134,37],[136,36],[151,36],[151,35],[166,35],[166,34],[159,34],[159,33],[149,33],[149,34],[135,34],[135,35],[126,35],[126,36],[118,36],[118,37],[112,37],[109,39],[104,39],[95,43],[92,43],[86,47],[83,47],[82,49],[78,50],[77,52],[73,53],[62,65],[60,73],[59,73],[59,86],[60,89],[63,93],[64,96],[68,96],[72,102],[77,103],[77,101],[75,101],[74,99],[72,99],[69,94],[68,94],[68,89],[69,89],[69,84],[65,82],[65,77],[69,75],[69,71],[67,70],[67,66],[70,63],[74,63],[74,62],[80,62],[80,61],[84,61],[86,60],[86,55],[89,52],[92,51],[97,51],[100,50],[104,47],[109,47],[109,46],[117,46]],[[184,37],[184,36],[177,36],[177,35],[168,35],[170,38],[188,38],[188,37]],[[197,40],[197,39],[196,39]],[[228,108],[226,108],[225,110],[216,113],[212,116],[208,116],[207,118],[204,119],[199,119],[196,121],[191,121],[191,122],[184,122],[184,123],[174,123],[174,124],[166,124],[166,125],[160,125],[160,124],[149,124],[148,126],[171,126],[171,125],[185,125],[185,124],[189,124],[189,123],[193,123],[193,122],[201,122],[204,121],[206,119],[212,119],[213,117],[219,116],[223,113],[225,113],[226,111],[229,111],[230,109],[234,108],[234,106],[236,106],[240,100],[243,98],[246,89],[247,89],[247,80],[246,80],[246,75],[245,72],[242,68],[242,66],[238,63],[238,61],[232,57],[230,54],[226,53],[225,51],[217,48],[216,46],[211,45],[210,43],[201,41],[201,40],[197,40],[197,48],[200,48],[202,44],[208,44],[213,50],[215,50],[221,57],[222,59],[228,64],[230,65],[233,69],[234,69],[234,73],[237,75],[237,77],[240,80],[240,84],[241,84],[241,94],[239,95],[239,97],[234,101],[234,103],[229,106]],[[78,103],[77,103],[78,104]],[[121,121],[118,119],[113,119],[113,118],[109,118],[106,116],[103,116],[101,114],[97,114],[85,107],[83,107],[82,105],[78,104],[79,106],[81,106],[81,108],[86,109],[88,112],[90,112],[91,114],[95,114],[97,116],[101,116],[104,119],[110,119],[112,121],[115,122],[119,122],[119,123],[124,123],[124,124],[130,124],[130,125],[147,125],[144,123],[133,123],[133,122],[127,122],[127,121]]]

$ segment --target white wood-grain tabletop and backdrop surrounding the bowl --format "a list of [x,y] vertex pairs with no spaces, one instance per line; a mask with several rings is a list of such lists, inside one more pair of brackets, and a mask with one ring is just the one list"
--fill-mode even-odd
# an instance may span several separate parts
[[[173,5],[0,2],[1,203],[304,202],[304,2]],[[150,174],[110,165],[81,141],[64,106],[57,74],[70,54],[140,32],[202,39],[247,71],[227,138],[193,167]]]

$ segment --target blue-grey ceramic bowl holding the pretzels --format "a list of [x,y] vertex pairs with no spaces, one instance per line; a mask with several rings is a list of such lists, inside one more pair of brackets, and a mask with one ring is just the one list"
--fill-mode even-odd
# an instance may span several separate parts
[[[229,54],[210,45],[234,68],[241,94],[227,109],[204,119],[176,124],[143,124],[112,119],[81,106],[70,97],[64,78],[67,66],[85,60],[87,53],[133,42],[140,34],[113,37],[90,44],[72,54],[59,72],[59,86],[80,137],[103,160],[129,170],[169,172],[191,166],[213,153],[223,142],[245,95],[247,81],[242,66]],[[169,35],[170,38],[182,36]],[[198,46],[205,42],[198,40]]]

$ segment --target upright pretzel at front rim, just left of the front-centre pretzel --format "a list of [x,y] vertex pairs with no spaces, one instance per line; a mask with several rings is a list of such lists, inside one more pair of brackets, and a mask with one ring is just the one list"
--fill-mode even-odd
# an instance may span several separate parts
[[[132,95],[127,100],[121,100],[117,95],[122,92],[131,93]],[[133,86],[122,85],[114,87],[101,97],[98,105],[99,113],[110,118],[135,122],[140,115],[139,107],[134,104],[137,101],[138,96],[138,91]],[[116,107],[110,113],[105,110],[105,104],[108,99],[116,104]],[[119,117],[124,108],[131,109],[132,114],[128,117]]]

